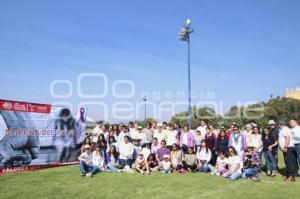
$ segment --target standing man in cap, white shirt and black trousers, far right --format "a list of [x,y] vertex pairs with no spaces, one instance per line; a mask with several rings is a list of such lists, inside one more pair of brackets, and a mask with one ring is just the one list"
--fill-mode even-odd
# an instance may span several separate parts
[[286,165],[286,181],[295,182],[295,176],[297,176],[297,159],[294,151],[294,142],[292,131],[287,127],[287,123],[284,120],[278,122],[279,125],[279,147],[284,156],[284,162]]

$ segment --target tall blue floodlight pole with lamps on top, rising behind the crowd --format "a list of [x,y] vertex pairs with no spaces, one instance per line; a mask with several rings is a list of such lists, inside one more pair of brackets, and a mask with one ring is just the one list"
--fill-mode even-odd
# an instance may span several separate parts
[[191,66],[190,66],[190,34],[193,32],[191,20],[186,20],[180,33],[179,39],[187,42],[187,56],[188,56],[188,113],[189,113],[189,127],[192,128],[192,97],[191,97]]

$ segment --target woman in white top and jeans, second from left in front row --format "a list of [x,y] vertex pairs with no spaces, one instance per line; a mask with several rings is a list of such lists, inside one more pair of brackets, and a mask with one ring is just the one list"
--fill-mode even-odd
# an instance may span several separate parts
[[86,176],[92,177],[97,172],[105,170],[104,152],[100,149],[100,145],[96,145],[96,150],[92,154],[92,171],[87,173]]

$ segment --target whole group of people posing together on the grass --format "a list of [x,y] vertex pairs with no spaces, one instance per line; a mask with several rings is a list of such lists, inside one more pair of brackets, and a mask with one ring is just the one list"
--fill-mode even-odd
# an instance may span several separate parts
[[230,128],[215,129],[201,121],[196,130],[174,123],[97,125],[81,148],[82,176],[97,172],[137,172],[150,174],[210,172],[232,180],[260,180],[263,159],[266,175],[278,172],[278,149],[286,164],[285,180],[294,182],[300,160],[300,127],[270,120],[266,127],[251,123],[245,128],[233,122]]

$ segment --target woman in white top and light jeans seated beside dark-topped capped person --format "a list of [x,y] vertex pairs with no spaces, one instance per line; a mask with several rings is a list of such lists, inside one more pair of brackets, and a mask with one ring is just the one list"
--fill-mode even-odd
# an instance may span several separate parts
[[225,178],[230,178],[231,180],[237,180],[241,177],[242,174],[241,159],[233,146],[230,146],[228,148],[228,152],[228,171],[226,171],[223,176]]

